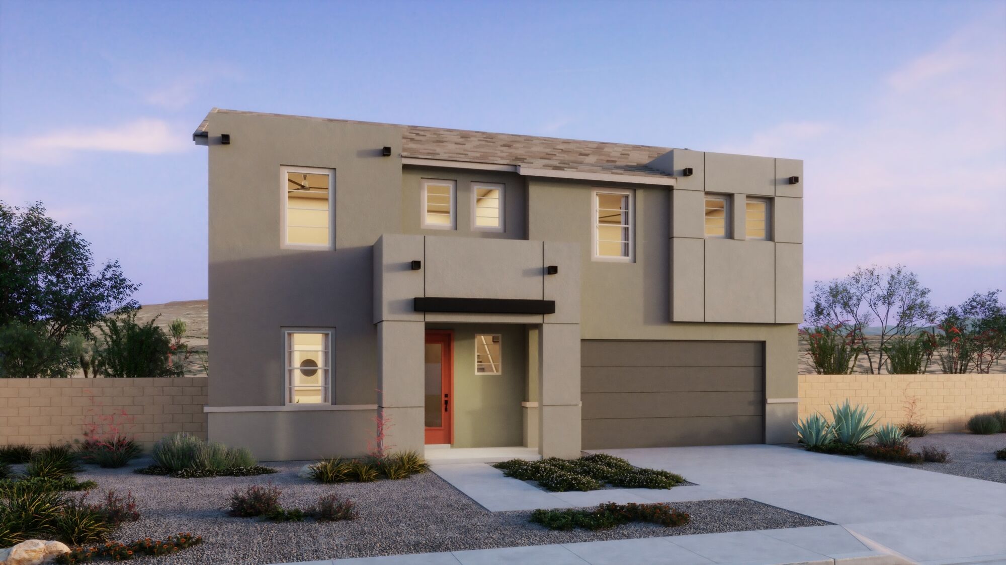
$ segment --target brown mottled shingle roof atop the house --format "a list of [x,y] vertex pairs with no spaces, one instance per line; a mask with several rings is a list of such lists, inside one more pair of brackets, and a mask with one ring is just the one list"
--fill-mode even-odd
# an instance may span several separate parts
[[[348,124],[374,124],[353,120],[309,118],[263,114],[236,110],[213,109],[210,113],[244,114],[299,118],[322,122]],[[209,117],[203,120],[196,133],[204,132]],[[395,126],[402,129],[401,156],[446,161],[467,161],[495,165],[520,165],[534,169],[604,173],[610,175],[670,177],[667,173],[646,166],[657,157],[671,151],[668,147],[629,145],[560,138],[542,138],[515,134],[496,134],[424,126]]]

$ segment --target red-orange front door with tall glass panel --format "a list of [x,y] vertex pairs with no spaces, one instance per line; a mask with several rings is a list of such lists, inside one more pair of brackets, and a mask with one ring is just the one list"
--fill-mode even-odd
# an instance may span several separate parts
[[454,439],[454,334],[427,330],[426,343],[426,442],[451,443]]

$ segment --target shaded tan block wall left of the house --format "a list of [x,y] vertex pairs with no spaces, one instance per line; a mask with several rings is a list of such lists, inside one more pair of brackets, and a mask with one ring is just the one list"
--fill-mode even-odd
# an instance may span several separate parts
[[89,422],[109,422],[110,416],[144,448],[177,431],[205,439],[202,407],[207,381],[205,377],[0,379],[0,445],[83,439]]

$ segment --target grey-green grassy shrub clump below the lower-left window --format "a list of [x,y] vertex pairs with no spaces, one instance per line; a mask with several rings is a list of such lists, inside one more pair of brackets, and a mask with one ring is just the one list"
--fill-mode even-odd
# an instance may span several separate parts
[[176,433],[160,439],[154,444],[151,456],[154,464],[135,472],[178,479],[249,477],[276,473],[274,468],[260,465],[248,449],[227,447],[217,441],[206,442],[188,433]]

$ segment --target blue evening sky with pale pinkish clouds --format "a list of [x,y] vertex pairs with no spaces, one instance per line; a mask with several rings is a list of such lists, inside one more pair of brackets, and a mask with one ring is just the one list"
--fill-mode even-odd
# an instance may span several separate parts
[[1006,1],[0,0],[0,200],[204,299],[213,108],[803,159],[805,287],[1006,290]]

